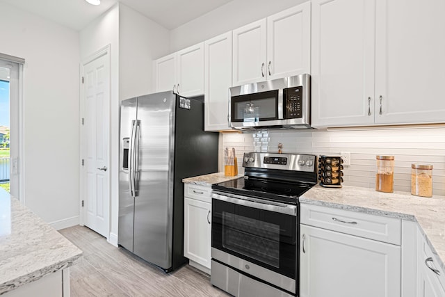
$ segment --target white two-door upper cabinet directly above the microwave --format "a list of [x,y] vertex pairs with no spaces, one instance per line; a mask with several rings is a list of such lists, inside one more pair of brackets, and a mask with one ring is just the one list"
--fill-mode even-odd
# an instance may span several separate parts
[[308,1],[233,31],[233,86],[310,73]]

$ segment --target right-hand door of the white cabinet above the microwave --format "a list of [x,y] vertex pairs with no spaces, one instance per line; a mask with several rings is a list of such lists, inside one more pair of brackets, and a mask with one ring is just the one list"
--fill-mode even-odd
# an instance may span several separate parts
[[311,2],[267,18],[268,79],[311,72]]

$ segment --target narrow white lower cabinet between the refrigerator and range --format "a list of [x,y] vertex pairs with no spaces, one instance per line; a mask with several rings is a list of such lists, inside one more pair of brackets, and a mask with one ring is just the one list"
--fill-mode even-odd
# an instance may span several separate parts
[[184,193],[184,257],[210,274],[211,188],[185,184]]

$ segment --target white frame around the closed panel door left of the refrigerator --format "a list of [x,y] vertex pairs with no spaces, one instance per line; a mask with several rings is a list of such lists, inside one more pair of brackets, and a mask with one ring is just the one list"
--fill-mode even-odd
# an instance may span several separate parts
[[[86,141],[85,141],[85,134],[84,131],[84,125],[83,125],[83,119],[85,118],[85,104],[83,102],[83,82],[82,78],[84,77],[84,66],[92,61],[95,61],[97,58],[100,58],[101,56],[108,55],[107,63],[108,63],[108,79],[110,81],[110,86],[108,90],[108,102],[111,106],[111,45],[108,44],[105,47],[102,47],[95,53],[91,54],[90,56],[87,56],[86,58],[83,58],[80,65],[80,71],[79,71],[79,88],[80,88],[80,118],[79,118],[79,124],[80,124],[80,141],[79,141],[79,152],[80,152],[80,159],[79,159],[79,180],[80,180],[80,191],[79,191],[79,225],[83,226],[85,225],[86,220],[86,207],[82,206],[83,198],[86,197],[86,166],[83,165],[83,160],[85,160],[86,156]],[[109,241],[110,239],[110,230],[111,230],[111,116],[108,117],[108,160],[107,160],[109,166],[107,170],[108,174],[108,222],[106,222],[107,230],[106,230],[106,239]]]

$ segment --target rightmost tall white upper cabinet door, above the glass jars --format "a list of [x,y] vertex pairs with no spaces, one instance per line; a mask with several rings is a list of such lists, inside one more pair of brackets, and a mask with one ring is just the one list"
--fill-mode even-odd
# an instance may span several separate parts
[[441,0],[377,1],[377,123],[445,121],[444,14]]

